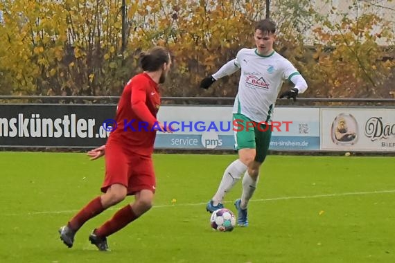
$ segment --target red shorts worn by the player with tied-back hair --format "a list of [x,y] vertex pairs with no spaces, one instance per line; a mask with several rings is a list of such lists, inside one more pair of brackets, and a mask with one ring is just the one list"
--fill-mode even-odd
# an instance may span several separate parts
[[125,153],[121,145],[109,143],[105,146],[105,179],[101,187],[107,192],[109,186],[120,183],[128,188],[128,195],[141,190],[155,193],[155,172],[150,156]]

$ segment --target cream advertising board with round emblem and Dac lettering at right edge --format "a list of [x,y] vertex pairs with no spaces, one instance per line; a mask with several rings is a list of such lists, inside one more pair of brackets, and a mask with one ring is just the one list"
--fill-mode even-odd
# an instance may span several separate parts
[[395,152],[395,109],[321,109],[321,149]]

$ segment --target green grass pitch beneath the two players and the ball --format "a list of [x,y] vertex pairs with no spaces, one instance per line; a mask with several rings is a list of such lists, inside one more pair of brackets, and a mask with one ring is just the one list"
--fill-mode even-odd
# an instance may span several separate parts
[[[103,253],[89,233],[132,197],[82,226],[73,248],[58,236],[100,194],[103,158],[0,152],[0,262],[395,262],[393,157],[269,156],[249,227],[220,233],[205,204],[235,158],[155,154],[155,206],[110,236]],[[236,212],[240,194],[239,182],[225,207]]]

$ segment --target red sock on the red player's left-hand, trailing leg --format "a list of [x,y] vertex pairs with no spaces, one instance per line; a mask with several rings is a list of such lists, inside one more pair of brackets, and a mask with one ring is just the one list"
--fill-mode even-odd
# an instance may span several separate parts
[[82,208],[80,212],[78,212],[77,215],[75,215],[70,221],[69,221],[69,228],[71,228],[74,231],[77,231],[80,229],[80,227],[85,224],[86,221],[91,219],[92,217],[96,217],[96,215],[100,214],[100,212],[103,212],[105,209],[103,208],[101,204],[101,198],[96,197],[92,201],[90,201],[85,208]]

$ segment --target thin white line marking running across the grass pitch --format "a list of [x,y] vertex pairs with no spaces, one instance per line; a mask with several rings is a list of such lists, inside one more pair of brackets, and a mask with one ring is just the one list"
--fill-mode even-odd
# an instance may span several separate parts
[[[348,195],[367,195],[367,194],[393,194],[395,190],[382,190],[382,191],[371,191],[371,192],[341,192],[337,194],[315,194],[315,195],[304,195],[304,196],[296,196],[296,197],[274,197],[274,198],[265,198],[265,199],[252,199],[250,202],[267,202],[267,201],[281,201],[281,200],[295,200],[295,199],[315,199],[322,197],[345,197]],[[225,201],[224,203],[231,203],[233,201]],[[152,208],[168,208],[175,206],[203,206],[206,205],[207,202],[204,203],[177,203],[172,205],[157,205]],[[107,210],[118,210],[119,208],[109,208]],[[5,216],[18,216],[18,215],[58,215],[58,214],[71,214],[78,212],[79,210],[60,210],[60,211],[37,211],[37,212],[27,212],[27,213],[15,213],[15,214],[3,214]]]

